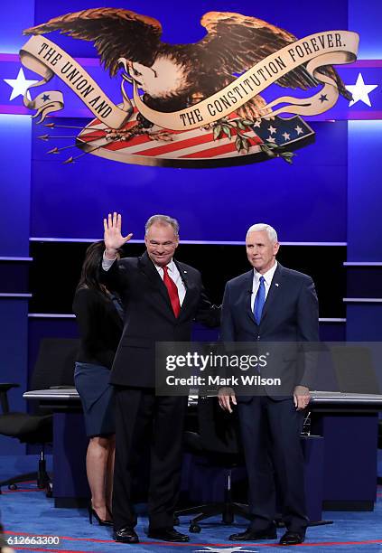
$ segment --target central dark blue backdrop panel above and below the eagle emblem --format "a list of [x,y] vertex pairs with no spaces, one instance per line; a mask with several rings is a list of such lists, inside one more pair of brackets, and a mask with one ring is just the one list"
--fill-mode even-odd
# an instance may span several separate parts
[[[132,1],[126,5],[125,0],[112,3],[70,0],[54,5],[36,0],[34,23],[108,4],[157,18],[163,24],[163,41],[174,43],[200,40],[206,33],[200,18],[213,10],[264,18],[299,38],[318,31],[348,28],[345,1],[331,5],[331,9],[316,5],[308,11],[297,1],[288,3],[283,10],[279,5],[216,0],[190,3],[174,10],[170,1],[160,4],[152,0]],[[98,57],[90,42],[60,33],[47,36],[76,58]],[[33,78],[32,74],[28,78]],[[346,105],[346,100],[343,102]],[[56,121],[78,127],[88,122],[79,117],[60,117]],[[250,224],[264,220],[275,225],[283,241],[344,242],[347,125],[345,122],[310,122],[310,125],[316,131],[316,143],[299,150],[292,166],[277,159],[215,170],[127,165],[94,155],[64,165],[62,161],[79,154],[79,150],[68,148],[61,155],[47,155],[47,151],[54,146],[74,144],[74,137],[43,142],[37,136],[47,129],[33,125],[31,236],[98,239],[102,234],[102,218],[107,211],[117,210],[126,215],[125,229],[133,231],[135,239],[143,239],[144,220],[155,212],[165,212],[180,220],[182,239],[186,240],[240,241]],[[54,130],[52,136],[75,136],[79,132]]]

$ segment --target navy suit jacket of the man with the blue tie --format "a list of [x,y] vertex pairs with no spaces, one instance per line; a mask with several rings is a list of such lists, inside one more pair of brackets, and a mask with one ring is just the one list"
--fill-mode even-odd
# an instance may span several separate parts
[[251,311],[253,275],[251,269],[226,285],[221,340],[267,342],[265,349],[270,355],[261,375],[282,380],[281,389],[266,387],[269,396],[284,398],[285,393],[293,393],[296,385],[311,388],[316,361],[314,343],[319,341],[318,301],[312,278],[278,264],[257,325]]

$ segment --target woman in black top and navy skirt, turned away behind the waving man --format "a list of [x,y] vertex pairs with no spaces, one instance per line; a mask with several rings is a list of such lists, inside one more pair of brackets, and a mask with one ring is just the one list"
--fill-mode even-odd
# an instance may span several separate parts
[[111,524],[115,419],[109,377],[123,329],[123,311],[119,298],[99,282],[104,250],[103,241],[87,249],[74,296],[73,313],[80,335],[74,380],[89,436],[86,456],[91,492],[89,521],[94,516],[99,524]]

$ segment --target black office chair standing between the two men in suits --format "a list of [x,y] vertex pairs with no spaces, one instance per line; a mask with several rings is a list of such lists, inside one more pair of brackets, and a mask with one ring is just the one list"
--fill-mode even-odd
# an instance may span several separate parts
[[199,522],[222,515],[224,524],[232,524],[235,515],[252,520],[247,505],[232,501],[232,471],[244,464],[239,443],[237,414],[229,415],[219,408],[217,398],[199,398],[199,432],[186,432],[185,450],[192,455],[203,457],[211,466],[225,471],[224,501],[198,505],[174,513],[175,524],[183,515],[198,514],[190,521],[190,531],[200,532]]

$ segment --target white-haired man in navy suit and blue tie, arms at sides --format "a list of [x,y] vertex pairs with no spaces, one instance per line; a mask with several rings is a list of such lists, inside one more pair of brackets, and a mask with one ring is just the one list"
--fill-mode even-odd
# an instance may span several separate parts
[[[317,295],[311,277],[282,267],[275,260],[279,249],[275,229],[262,223],[253,225],[247,231],[246,246],[253,269],[227,283],[221,339],[256,341],[259,347],[261,342],[268,342],[270,356],[275,353],[277,359],[273,374],[282,381],[283,391],[278,395],[275,388],[265,387],[237,401],[233,389],[219,390],[220,407],[231,412],[232,404],[238,403],[249,505],[254,515],[249,528],[230,539],[276,538],[275,472],[287,530],[280,544],[293,545],[303,542],[308,525],[299,436],[303,409],[310,400],[313,343],[319,340]],[[267,376],[266,369],[260,372]]]

